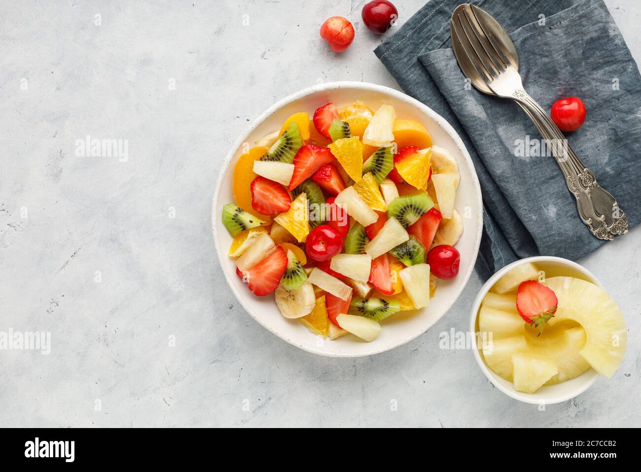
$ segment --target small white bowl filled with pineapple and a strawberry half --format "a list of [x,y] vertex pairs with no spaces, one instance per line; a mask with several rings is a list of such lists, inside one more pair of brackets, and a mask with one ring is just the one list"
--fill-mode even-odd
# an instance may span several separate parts
[[610,378],[627,343],[622,313],[596,277],[551,256],[521,259],[490,277],[470,330],[488,380],[535,404],[566,401],[599,375]]

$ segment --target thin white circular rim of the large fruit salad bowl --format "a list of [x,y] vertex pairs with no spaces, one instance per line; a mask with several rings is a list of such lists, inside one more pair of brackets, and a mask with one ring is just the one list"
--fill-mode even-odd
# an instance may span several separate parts
[[[322,356],[328,356],[328,357],[347,357],[347,358],[355,358],[355,357],[364,357],[364,356],[372,356],[374,354],[380,354],[384,353],[385,351],[390,351],[391,349],[394,349],[395,347],[399,347],[399,345],[406,344],[407,342],[410,342],[411,340],[419,337],[426,331],[428,331],[429,328],[431,328],[438,320],[440,320],[442,317],[447,314],[447,312],[452,308],[452,305],[456,300],[458,300],[458,297],[460,297],[461,293],[463,292],[463,289],[467,285],[467,282],[469,281],[470,275],[472,275],[472,271],[474,270],[474,264],[476,263],[476,258],[478,256],[478,251],[479,247],[481,244],[481,234],[483,232],[483,199],[481,197],[481,186],[479,184],[478,180],[478,175],[476,174],[476,168],[474,168],[474,162],[472,162],[472,158],[470,157],[469,152],[467,152],[467,148],[465,148],[465,144],[463,144],[463,141],[461,137],[458,135],[456,130],[452,127],[452,125],[449,124],[449,122],[440,116],[437,112],[429,108],[427,105],[424,103],[421,103],[420,101],[416,100],[415,98],[410,97],[409,95],[404,94],[403,92],[399,92],[395,89],[390,89],[390,87],[385,87],[385,85],[377,85],[376,83],[369,83],[369,82],[353,82],[353,81],[338,81],[338,82],[326,82],[326,83],[319,83],[317,85],[313,85],[312,87],[306,87],[304,89],[301,89],[297,92],[294,92],[293,94],[277,101],[269,107],[267,110],[265,110],[258,118],[254,119],[254,121],[249,125],[249,127],[246,128],[246,130],[238,137],[238,139],[231,145],[231,148],[229,148],[229,152],[227,156],[225,157],[224,161],[222,162],[221,166],[221,174],[219,175],[217,181],[216,181],[216,186],[213,191],[213,197],[212,197],[212,235],[213,235],[213,241],[216,246],[216,252],[217,256],[219,258],[219,261],[222,261],[223,257],[226,256],[226,252],[221,250],[221,247],[219,247],[218,244],[218,225],[219,225],[219,218],[217,218],[217,206],[218,206],[218,199],[221,191],[221,186],[222,186],[222,178],[223,175],[228,168],[229,164],[231,163],[231,159],[233,159],[234,155],[236,154],[238,148],[240,148],[241,144],[244,143],[247,140],[247,137],[253,132],[253,130],[258,127],[265,119],[267,119],[271,114],[276,112],[278,109],[281,109],[288,103],[291,103],[292,101],[299,100],[303,98],[304,96],[320,92],[320,91],[326,91],[326,90],[333,90],[333,89],[361,89],[361,90],[367,90],[367,91],[372,91],[372,92],[381,92],[384,94],[388,94],[394,98],[397,98],[398,100],[405,101],[406,103],[410,103],[417,109],[419,109],[422,113],[426,114],[429,116],[429,118],[433,119],[434,121],[437,122],[438,126],[443,128],[447,134],[449,134],[452,139],[454,140],[454,143],[458,146],[460,149],[463,159],[469,164],[469,168],[472,170],[472,185],[474,186],[474,190],[476,193],[476,198],[477,201],[480,204],[480,211],[481,211],[481,219],[477,228],[477,234],[476,234],[476,245],[474,247],[474,254],[472,254],[472,258],[470,260],[472,263],[470,263],[470,266],[463,275],[463,283],[461,284],[460,289],[456,293],[456,296],[453,297],[452,301],[449,303],[443,314],[436,320],[434,320],[433,323],[429,324],[426,326],[426,328],[422,330],[417,330],[413,333],[410,333],[408,337],[404,338],[404,340],[401,340],[399,342],[396,342],[391,345],[379,347],[377,349],[372,349],[371,351],[366,351],[366,352],[356,352],[356,351],[351,351],[351,352],[345,352],[345,353],[331,353],[331,352],[326,352],[326,351],[317,351],[315,349],[311,349],[310,347],[300,344],[299,342],[296,342],[296,340],[293,340],[292,338],[284,335],[283,333],[279,332],[278,329],[273,329],[271,326],[268,326],[267,324],[263,323],[260,317],[257,317],[254,315],[253,310],[249,308],[248,304],[246,304],[244,297],[242,294],[238,293],[236,290],[235,286],[233,283],[231,283],[230,275],[223,270],[223,274],[225,277],[225,280],[231,288],[231,292],[233,292],[234,296],[238,300],[238,302],[241,304],[241,306],[249,313],[249,315],[256,320],[263,328],[267,329],[268,331],[271,331],[271,333],[274,333],[274,335],[278,336],[285,342],[288,342],[289,344],[295,345],[299,349],[303,349],[303,351],[306,351],[308,353],[312,354],[319,354]],[[220,262],[219,262],[220,263]],[[221,266],[222,267],[222,266]]]

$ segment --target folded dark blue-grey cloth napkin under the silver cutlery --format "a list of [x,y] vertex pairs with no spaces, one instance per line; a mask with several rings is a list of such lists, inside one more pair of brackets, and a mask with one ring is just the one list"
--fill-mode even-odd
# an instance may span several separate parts
[[[641,77],[603,1],[467,1],[510,33],[524,87],[544,109],[566,96],[583,100],[587,119],[566,136],[636,225]],[[537,128],[512,100],[470,87],[458,67],[449,19],[460,3],[429,1],[374,52],[407,94],[453,125],[472,156],[485,209],[476,269],[487,278],[538,254],[581,258],[605,241],[579,220],[554,158],[531,157]]]

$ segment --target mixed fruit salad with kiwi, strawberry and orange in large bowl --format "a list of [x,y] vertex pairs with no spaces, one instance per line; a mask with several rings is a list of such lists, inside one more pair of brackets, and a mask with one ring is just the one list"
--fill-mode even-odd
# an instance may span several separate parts
[[453,155],[390,105],[298,112],[238,157],[221,213],[229,257],[283,317],[372,341],[458,274],[459,180]]

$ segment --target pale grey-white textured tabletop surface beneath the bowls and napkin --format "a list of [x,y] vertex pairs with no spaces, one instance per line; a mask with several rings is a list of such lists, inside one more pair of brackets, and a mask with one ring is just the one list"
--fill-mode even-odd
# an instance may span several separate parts
[[[581,261],[626,315],[624,363],[544,412],[494,389],[470,351],[438,349],[438,333],[467,328],[476,275],[428,333],[355,360],[286,344],[229,293],[210,198],[232,141],[319,80],[397,87],[364,3],[0,4],[0,330],[53,343],[0,351],[1,425],[640,425],[640,229]],[[395,3],[403,22],[422,0]],[[641,5],[606,3],[641,60]],[[357,29],[342,55],[318,36],[331,15]],[[128,161],[76,157],[85,135],[128,139]]]

